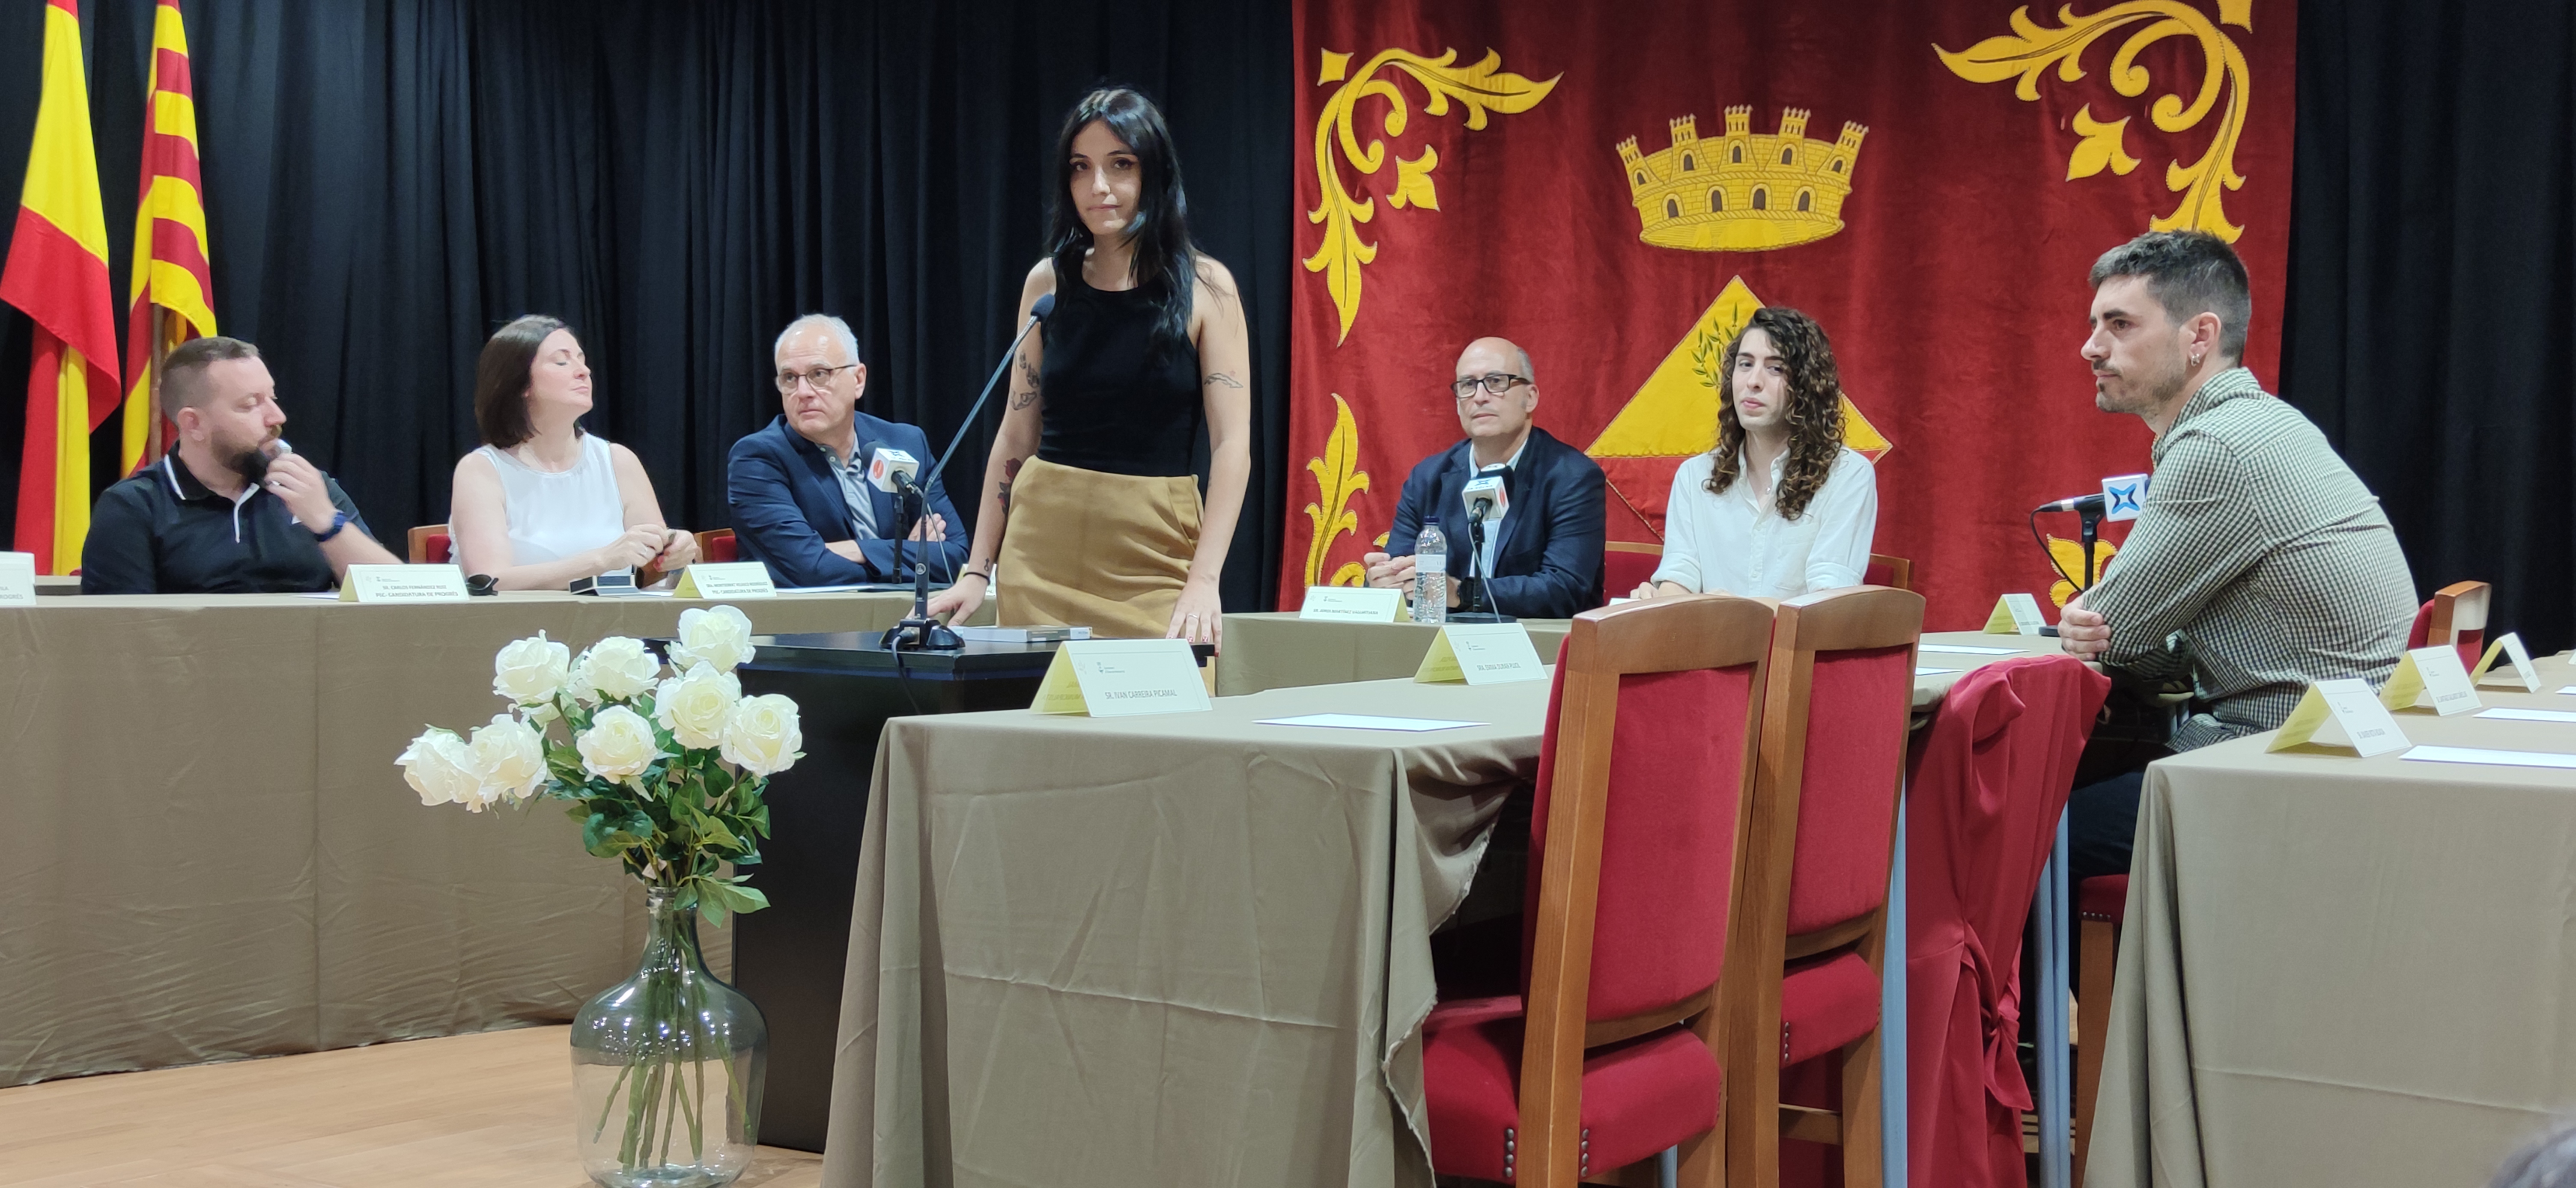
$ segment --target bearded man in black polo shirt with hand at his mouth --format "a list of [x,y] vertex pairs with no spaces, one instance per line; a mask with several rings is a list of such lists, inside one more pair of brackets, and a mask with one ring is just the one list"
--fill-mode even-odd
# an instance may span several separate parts
[[337,482],[281,454],[286,412],[260,348],[180,343],[162,361],[160,407],[178,448],[98,497],[80,593],[330,590],[350,564],[399,564]]

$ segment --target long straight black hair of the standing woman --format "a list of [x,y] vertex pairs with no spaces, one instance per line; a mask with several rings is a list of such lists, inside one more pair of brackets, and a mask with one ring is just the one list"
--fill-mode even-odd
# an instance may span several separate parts
[[1136,214],[1126,237],[1136,245],[1128,273],[1136,286],[1164,281],[1162,317],[1154,335],[1167,343],[1190,340],[1190,283],[1198,276],[1198,253],[1190,247],[1190,198],[1180,188],[1180,155],[1172,152],[1172,129],[1162,124],[1154,101],[1128,88],[1103,88],[1082,95],[1064,116],[1056,134],[1056,198],[1048,204],[1046,242],[1056,260],[1056,291],[1069,276],[1082,276],[1082,253],[1092,245],[1092,229],[1082,224],[1074,206],[1074,137],[1092,121],[1108,124],[1110,134],[1136,155]]

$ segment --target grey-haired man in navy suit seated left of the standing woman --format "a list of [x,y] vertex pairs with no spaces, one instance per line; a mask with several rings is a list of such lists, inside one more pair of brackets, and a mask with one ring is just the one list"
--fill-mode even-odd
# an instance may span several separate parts
[[[806,314],[778,335],[778,394],[786,410],[726,456],[734,546],[783,588],[909,582],[914,564],[948,582],[966,564],[956,508],[930,474],[930,438],[858,410],[868,366],[858,338],[832,314]],[[868,482],[868,454],[899,448],[922,464],[927,500],[909,531],[891,492]],[[904,539],[896,541],[894,536]]]

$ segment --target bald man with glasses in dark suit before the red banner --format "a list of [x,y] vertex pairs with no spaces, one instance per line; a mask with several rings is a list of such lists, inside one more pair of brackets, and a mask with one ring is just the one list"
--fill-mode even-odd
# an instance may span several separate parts
[[[1414,539],[1422,518],[1440,518],[1448,536],[1450,608],[1471,606],[1515,618],[1571,618],[1602,606],[1602,469],[1579,448],[1530,425],[1538,379],[1530,353],[1502,338],[1479,338],[1458,356],[1458,425],[1466,441],[1422,459],[1404,479],[1386,551],[1363,557],[1368,585],[1414,585]],[[1507,510],[1486,526],[1486,564],[1468,557],[1468,515],[1458,492],[1479,472],[1499,469]],[[1479,572],[1494,575],[1481,582]]]

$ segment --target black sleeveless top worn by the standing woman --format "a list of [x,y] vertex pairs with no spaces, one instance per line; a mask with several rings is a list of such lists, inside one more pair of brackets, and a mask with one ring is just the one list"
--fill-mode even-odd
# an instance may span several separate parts
[[1056,276],[1056,312],[1041,322],[1038,456],[1108,474],[1190,474],[1206,402],[1198,348],[1154,338],[1162,281],[1123,291]]

